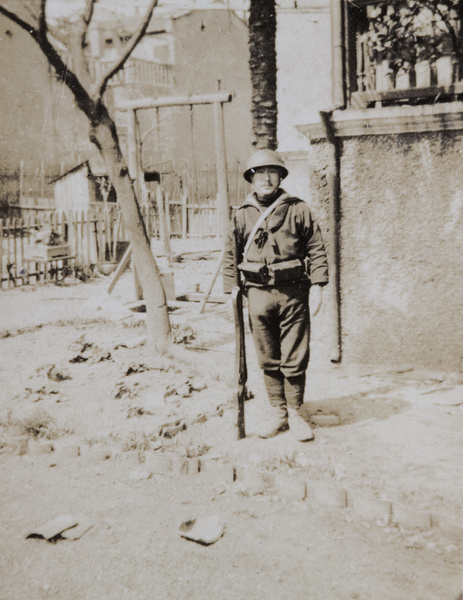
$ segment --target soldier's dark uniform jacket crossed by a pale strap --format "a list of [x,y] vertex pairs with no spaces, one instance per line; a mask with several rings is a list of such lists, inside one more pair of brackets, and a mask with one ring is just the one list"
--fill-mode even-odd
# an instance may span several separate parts
[[[237,231],[238,252],[237,262],[277,265],[286,261],[299,259],[305,265],[301,280],[309,284],[326,285],[328,283],[328,265],[325,247],[318,223],[314,220],[306,202],[299,198],[290,197],[284,190],[279,189],[272,202],[279,198],[279,204],[263,221],[257,230],[249,248],[243,256],[243,251],[252,230],[262,213],[267,208],[258,203],[250,194],[234,216],[234,228]],[[270,204],[271,204],[270,203]],[[224,292],[232,291],[236,285],[234,259],[233,227],[227,240],[224,265]],[[262,283],[245,278],[245,285],[260,287]]]

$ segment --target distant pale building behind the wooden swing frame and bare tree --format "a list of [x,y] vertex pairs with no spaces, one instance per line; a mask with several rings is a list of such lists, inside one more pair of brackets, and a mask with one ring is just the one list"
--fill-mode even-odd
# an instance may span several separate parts
[[[97,19],[87,39],[94,74],[115,60],[135,22],[130,17]],[[0,38],[1,169],[15,171],[20,160],[26,170],[45,162],[46,172],[57,175],[88,154],[88,122],[30,36],[0,17]],[[145,37],[110,81],[108,105],[115,109],[124,99],[208,94],[219,87],[230,91],[235,95],[225,108],[228,159],[244,160],[251,148],[247,41],[246,24],[222,5],[192,12],[156,9]],[[125,117],[116,112],[115,118],[124,145]],[[144,168],[192,155],[198,164],[214,160],[210,107],[161,109],[157,115],[143,111],[139,118]]]

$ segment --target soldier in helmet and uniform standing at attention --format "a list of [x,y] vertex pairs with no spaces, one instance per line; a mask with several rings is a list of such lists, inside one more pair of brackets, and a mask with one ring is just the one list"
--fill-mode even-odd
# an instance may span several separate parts
[[234,216],[223,281],[224,292],[230,293],[237,266],[272,407],[271,421],[259,436],[269,438],[290,429],[299,441],[309,441],[314,435],[299,408],[309,363],[310,313],[314,317],[321,307],[328,267],[320,228],[309,206],[280,188],[287,175],[272,150],[259,150],[250,158],[244,178],[252,192]]

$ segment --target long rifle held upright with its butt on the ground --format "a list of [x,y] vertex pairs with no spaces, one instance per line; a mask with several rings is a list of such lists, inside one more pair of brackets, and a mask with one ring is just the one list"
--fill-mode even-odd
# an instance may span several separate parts
[[246,382],[248,379],[248,370],[246,366],[246,338],[244,330],[244,315],[243,315],[243,284],[241,282],[238,271],[240,262],[240,250],[238,243],[238,231],[236,228],[233,231],[235,241],[234,260],[236,285],[232,290],[232,306],[233,316],[235,318],[235,381],[236,381],[236,399],[238,405],[238,439],[246,437],[244,423],[244,403],[247,399]]

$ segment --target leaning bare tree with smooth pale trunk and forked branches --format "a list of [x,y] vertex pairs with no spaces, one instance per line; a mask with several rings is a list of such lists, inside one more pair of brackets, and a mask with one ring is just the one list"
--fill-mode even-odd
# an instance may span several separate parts
[[[72,35],[62,37],[61,45],[72,57],[74,70],[70,69],[63,56],[52,43],[46,19],[47,0],[35,6],[16,0],[0,0],[0,14],[27,31],[54,68],[56,75],[74,95],[77,106],[89,120],[90,139],[98,147],[116,190],[121,205],[122,217],[132,247],[134,262],[140,277],[146,301],[148,345],[157,352],[164,352],[171,341],[167,304],[162,287],[161,275],[151,252],[140,206],[133,182],[129,176],[116,132],[116,126],[103,103],[103,95],[110,79],[123,68],[134,48],[146,32],[157,0],[147,0],[148,8],[138,29],[122,49],[114,64],[92,79],[85,54],[86,38],[97,0],[85,0],[83,12],[73,22]],[[54,31],[59,36],[59,30]],[[64,52],[66,56],[66,52]]]

